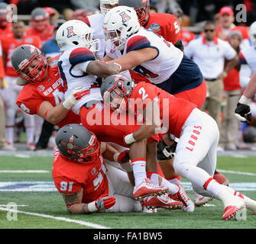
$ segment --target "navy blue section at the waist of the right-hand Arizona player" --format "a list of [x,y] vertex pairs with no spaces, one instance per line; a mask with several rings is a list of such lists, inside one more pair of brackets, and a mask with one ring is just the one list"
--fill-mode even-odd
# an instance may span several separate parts
[[183,56],[178,69],[167,81],[155,84],[170,94],[177,94],[198,87],[203,82],[203,74],[192,59]]

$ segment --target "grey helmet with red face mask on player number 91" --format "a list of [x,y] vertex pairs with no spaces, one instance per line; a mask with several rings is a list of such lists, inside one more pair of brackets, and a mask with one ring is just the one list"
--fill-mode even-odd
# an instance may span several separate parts
[[76,162],[96,162],[100,156],[100,144],[95,134],[79,124],[60,128],[56,144],[60,154]]

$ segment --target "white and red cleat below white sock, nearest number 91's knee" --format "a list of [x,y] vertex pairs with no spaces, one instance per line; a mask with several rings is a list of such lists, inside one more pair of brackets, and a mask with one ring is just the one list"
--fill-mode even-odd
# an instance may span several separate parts
[[143,197],[157,196],[167,193],[167,187],[155,186],[148,178],[145,178],[140,185],[134,186],[133,197],[135,200],[141,200]]

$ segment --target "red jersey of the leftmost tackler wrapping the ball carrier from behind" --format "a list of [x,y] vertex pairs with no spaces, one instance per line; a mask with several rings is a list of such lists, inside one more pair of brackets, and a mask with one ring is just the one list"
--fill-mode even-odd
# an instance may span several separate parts
[[[66,85],[60,79],[57,59],[53,59],[48,68],[47,79],[38,84],[24,85],[18,94],[16,104],[28,114],[38,114],[42,102],[49,101],[53,106],[57,106],[63,101],[65,92]],[[74,114],[73,111],[69,111],[66,117],[57,123],[57,126],[63,127],[70,123],[80,123],[79,115]]]

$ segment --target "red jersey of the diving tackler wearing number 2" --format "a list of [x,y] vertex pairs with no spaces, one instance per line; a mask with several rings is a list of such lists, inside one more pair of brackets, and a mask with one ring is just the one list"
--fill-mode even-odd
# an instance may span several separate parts
[[142,119],[142,113],[146,105],[154,99],[157,100],[160,108],[160,119],[163,123],[162,126],[167,127],[168,133],[173,134],[177,138],[180,137],[186,119],[190,116],[193,109],[196,108],[196,104],[183,98],[176,98],[168,92],[157,88],[156,85],[145,82],[140,82],[135,86],[131,93],[131,99],[134,99],[133,101],[136,106],[130,106],[129,111],[138,120]]

